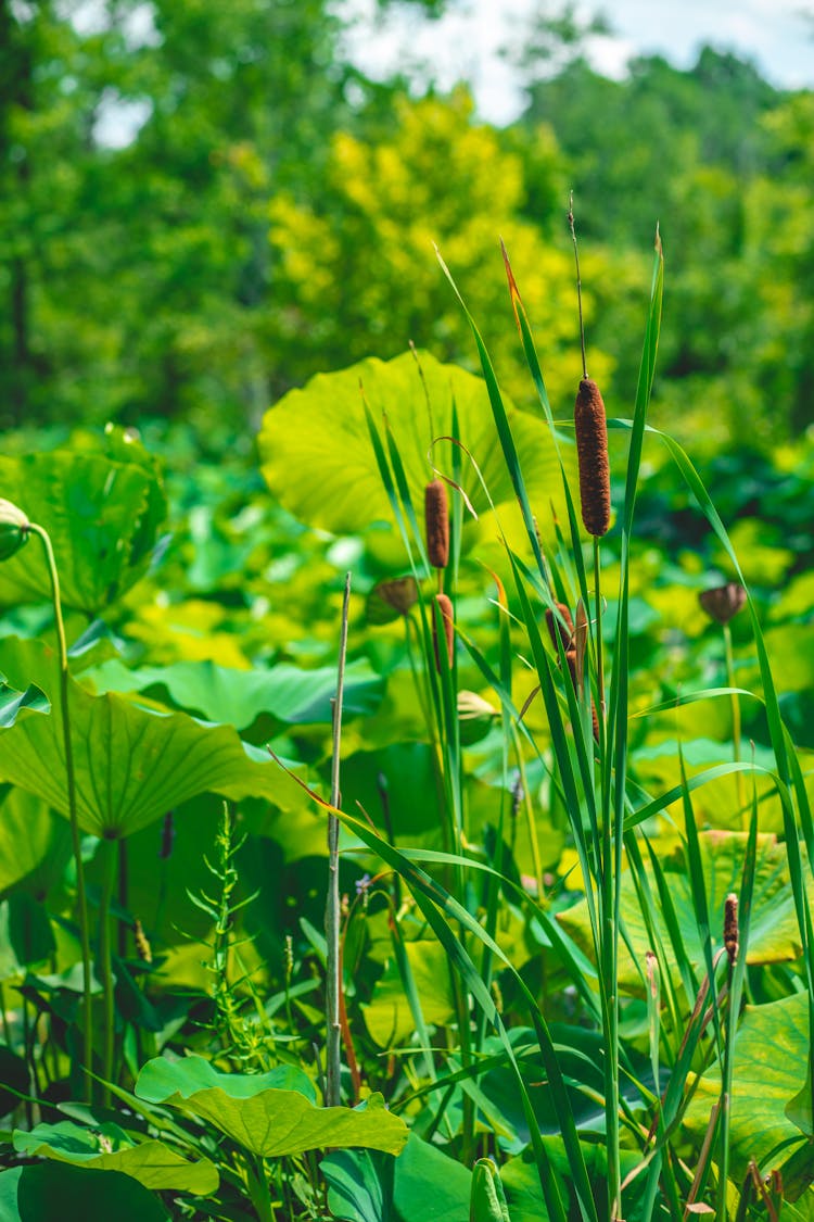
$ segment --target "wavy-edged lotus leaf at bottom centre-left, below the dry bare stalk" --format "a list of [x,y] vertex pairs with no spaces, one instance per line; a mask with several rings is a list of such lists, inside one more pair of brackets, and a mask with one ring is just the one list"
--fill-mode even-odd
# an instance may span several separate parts
[[206,1119],[244,1150],[266,1158],[325,1146],[399,1154],[408,1139],[406,1125],[387,1111],[381,1095],[356,1108],[317,1107],[310,1080],[292,1067],[236,1074],[218,1073],[203,1057],[157,1058],[142,1069],[135,1094]]

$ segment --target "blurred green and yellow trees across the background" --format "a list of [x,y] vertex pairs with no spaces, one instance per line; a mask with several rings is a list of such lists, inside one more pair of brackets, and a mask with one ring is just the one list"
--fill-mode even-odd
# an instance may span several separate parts
[[659,220],[657,423],[710,444],[805,429],[814,95],[710,48],[609,81],[583,54],[600,28],[542,6],[508,53],[524,112],[497,128],[465,87],[365,78],[328,0],[0,0],[0,424],[237,428],[410,340],[471,365],[433,241],[520,398],[498,236],[564,417],[572,187],[609,409],[630,412]]

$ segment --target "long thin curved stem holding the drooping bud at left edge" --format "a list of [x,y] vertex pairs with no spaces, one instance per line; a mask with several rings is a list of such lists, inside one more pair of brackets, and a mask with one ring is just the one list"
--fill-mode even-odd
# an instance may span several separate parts
[[39,535],[45,550],[45,562],[51,580],[51,595],[54,601],[54,622],[56,626],[56,642],[60,661],[60,714],[62,719],[62,743],[65,749],[65,777],[67,783],[68,818],[71,820],[71,843],[73,848],[73,862],[77,871],[77,907],[79,909],[79,938],[82,945],[82,973],[83,973],[83,1069],[85,1074],[84,1096],[85,1102],[93,1097],[93,1079],[89,1070],[93,1067],[93,1011],[90,997],[90,929],[88,924],[88,899],[84,887],[84,865],[82,862],[82,837],[79,835],[79,818],[77,815],[76,777],[73,772],[73,749],[71,745],[71,715],[68,710],[68,646],[65,637],[65,623],[62,621],[62,606],[60,602],[60,577],[54,557],[54,549],[48,530],[31,523],[32,534]]

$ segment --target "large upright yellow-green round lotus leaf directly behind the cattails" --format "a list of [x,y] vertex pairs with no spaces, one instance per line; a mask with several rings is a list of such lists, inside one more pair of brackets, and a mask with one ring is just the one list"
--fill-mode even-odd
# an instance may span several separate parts
[[[370,358],[338,373],[317,374],[266,413],[259,439],[262,473],[273,495],[295,517],[337,534],[392,519],[362,391],[382,437],[387,422],[419,518],[423,513],[425,485],[433,478],[427,456],[433,439],[453,435],[453,404],[459,420],[454,435],[481,468],[492,501],[514,502],[483,381],[456,365],[441,364],[428,353],[421,353],[420,359],[432,422],[409,352],[388,362]],[[549,501],[559,503],[561,491],[554,444],[544,423],[508,401],[505,407],[528,496],[532,507],[539,506],[544,524]],[[432,451],[434,466],[447,475],[453,474],[452,448],[442,441]],[[458,458],[466,495],[476,512],[487,511],[488,501],[471,462],[460,451]]]

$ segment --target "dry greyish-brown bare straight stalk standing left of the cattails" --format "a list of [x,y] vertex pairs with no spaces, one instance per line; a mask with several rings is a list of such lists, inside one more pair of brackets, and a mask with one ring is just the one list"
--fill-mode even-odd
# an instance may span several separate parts
[[[339,807],[339,749],[342,738],[342,698],[345,678],[345,654],[348,651],[348,605],[350,601],[350,573],[345,574],[342,601],[342,628],[339,633],[339,662],[337,666],[337,694],[333,700],[333,755],[331,767],[331,805]],[[328,895],[325,906],[326,953],[326,1048],[325,1075],[327,1107],[340,1102],[339,1073],[342,1068],[342,948],[339,945],[339,820],[328,815]]]

